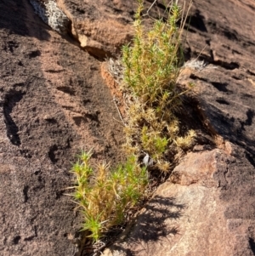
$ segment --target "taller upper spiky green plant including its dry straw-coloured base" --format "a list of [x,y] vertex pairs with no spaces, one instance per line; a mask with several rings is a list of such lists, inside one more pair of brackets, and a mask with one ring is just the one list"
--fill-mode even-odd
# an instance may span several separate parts
[[[169,145],[188,147],[194,131],[178,137],[179,125],[175,117],[181,105],[177,88],[180,65],[184,58],[181,35],[184,17],[177,3],[172,3],[167,21],[155,20],[149,31],[143,26],[143,1],[135,14],[133,43],[122,48],[122,90],[132,95],[127,111],[127,152],[148,153],[163,171],[169,169],[164,153]],[[177,23],[180,21],[181,26]]]

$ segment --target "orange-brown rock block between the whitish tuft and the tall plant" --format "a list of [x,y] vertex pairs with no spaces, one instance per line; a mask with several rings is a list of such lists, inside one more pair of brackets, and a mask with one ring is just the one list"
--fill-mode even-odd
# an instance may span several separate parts
[[116,57],[122,45],[130,41],[130,24],[122,14],[116,15],[117,8],[122,7],[120,2],[57,0],[57,3],[72,21],[71,33],[81,47],[100,60]]

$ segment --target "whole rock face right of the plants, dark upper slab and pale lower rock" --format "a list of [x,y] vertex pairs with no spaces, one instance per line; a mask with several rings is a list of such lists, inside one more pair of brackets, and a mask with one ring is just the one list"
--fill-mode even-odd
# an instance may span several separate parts
[[255,254],[255,3],[197,0],[189,15],[198,60],[179,82],[195,82],[214,146],[196,145],[105,255]]

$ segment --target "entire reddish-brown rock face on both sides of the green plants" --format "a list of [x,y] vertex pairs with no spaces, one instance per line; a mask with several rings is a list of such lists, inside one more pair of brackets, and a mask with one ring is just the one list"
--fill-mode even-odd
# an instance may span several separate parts
[[[197,145],[105,255],[255,254],[255,3],[193,2],[184,54],[198,59],[178,82],[196,84],[186,122],[201,126]],[[4,256],[77,253],[81,216],[65,196],[70,162],[91,147],[94,161],[122,157],[111,77],[98,60],[130,41],[135,3],[56,3],[71,20],[67,34],[43,23],[29,1],[0,2]]]

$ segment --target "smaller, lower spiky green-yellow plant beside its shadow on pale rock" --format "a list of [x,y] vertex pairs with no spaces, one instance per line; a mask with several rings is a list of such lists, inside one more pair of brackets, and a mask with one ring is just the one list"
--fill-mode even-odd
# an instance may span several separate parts
[[113,170],[105,162],[93,170],[89,163],[91,156],[90,151],[82,151],[73,165],[76,177],[73,196],[82,208],[82,230],[88,230],[88,237],[96,242],[112,226],[121,224],[127,209],[144,198],[148,174],[134,156]]

